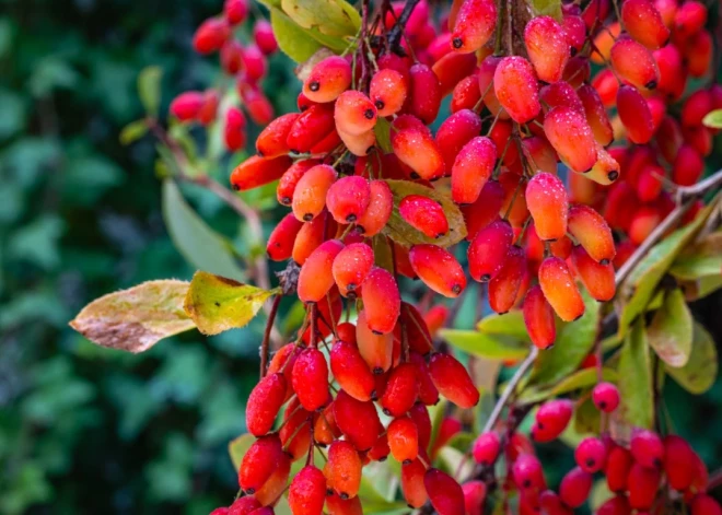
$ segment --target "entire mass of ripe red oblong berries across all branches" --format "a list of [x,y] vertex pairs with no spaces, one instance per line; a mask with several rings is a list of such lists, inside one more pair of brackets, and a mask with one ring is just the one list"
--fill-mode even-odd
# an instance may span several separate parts
[[[607,434],[584,440],[556,493],[517,424],[494,428],[470,449],[481,471],[459,484],[434,457],[462,423],[447,419],[432,438],[429,407],[443,397],[461,412],[479,391],[434,347],[446,308],[420,309],[399,289],[401,278],[419,279],[455,299],[468,271],[493,312],[521,309],[540,350],[555,343],[558,319],[582,317],[585,293],[610,301],[615,267],[674,209],[675,188],[700,179],[711,152],[701,120],[722,107],[722,86],[687,91],[688,79],[707,80],[713,68],[707,8],[591,0],[563,3],[555,16],[519,0],[455,0],[440,16],[426,0],[364,1],[353,43],[305,63],[298,112],[276,118],[258,87],[276,49],[269,26],[256,22],[245,47],[232,37],[246,11],[226,0],[194,45],[220,51],[246,112],[266,126],[231,185],[277,183],[290,211],[267,254],[289,261],[283,292],[306,312],[248,399],[257,440],[238,471],[242,495],[214,515],[272,514],[287,491],[294,515],[361,514],[363,469],[389,455],[406,503],[440,515],[480,515],[492,487],[515,492],[522,514],[572,513],[597,472],[615,493],[603,515],[668,513],[669,503],[721,513],[691,447],[649,431],[629,447]],[[602,67],[594,75],[592,65]],[[440,120],[444,100],[451,113]],[[213,91],[184,93],[171,110],[210,124],[218,101]],[[244,115],[231,107],[224,116],[228,148],[238,150]],[[619,394],[599,383],[592,399],[608,413]],[[540,406],[532,438],[557,438],[573,408]],[[500,456],[501,485],[487,473]],[[305,465],[292,476],[296,461]]]

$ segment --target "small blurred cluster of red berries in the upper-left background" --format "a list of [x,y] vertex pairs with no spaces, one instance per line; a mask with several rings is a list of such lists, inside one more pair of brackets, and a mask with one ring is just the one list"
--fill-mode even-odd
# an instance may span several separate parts
[[[267,56],[278,49],[273,31],[266,20],[253,24],[253,43],[243,45],[234,37],[234,30],[248,17],[249,0],[225,0],[223,13],[206,20],[196,30],[194,49],[200,55],[220,52],[221,67],[230,77],[236,78],[238,96],[251,119],[260,126],[273,118],[273,107],[259,89],[266,75]],[[188,91],[171,103],[171,114],[182,122],[198,122],[208,126],[218,117],[220,93],[211,89],[205,92]],[[246,147],[246,117],[238,107],[224,112],[224,142],[229,151]]]

